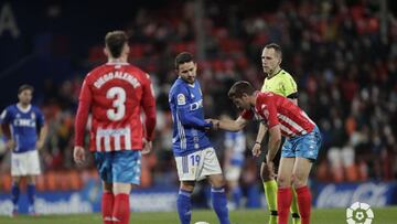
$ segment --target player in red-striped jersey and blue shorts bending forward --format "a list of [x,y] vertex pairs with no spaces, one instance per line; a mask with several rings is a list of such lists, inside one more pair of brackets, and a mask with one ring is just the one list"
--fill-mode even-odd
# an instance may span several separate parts
[[[303,224],[310,223],[311,193],[308,178],[321,146],[316,125],[291,100],[271,92],[258,93],[248,82],[235,83],[228,92],[234,104],[244,109],[236,120],[212,120],[215,128],[229,131],[243,129],[247,120],[256,118],[269,131],[266,163],[273,169],[273,159],[286,137],[278,171],[277,209],[278,223],[288,223],[288,210],[292,201],[292,188],[297,191],[299,212]],[[258,156],[260,150],[253,151]],[[273,177],[272,177],[273,178]]]

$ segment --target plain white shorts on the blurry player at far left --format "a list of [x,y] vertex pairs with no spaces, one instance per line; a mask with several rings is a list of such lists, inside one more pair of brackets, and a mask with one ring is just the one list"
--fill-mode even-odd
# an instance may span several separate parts
[[40,160],[37,150],[11,153],[11,175],[39,175]]

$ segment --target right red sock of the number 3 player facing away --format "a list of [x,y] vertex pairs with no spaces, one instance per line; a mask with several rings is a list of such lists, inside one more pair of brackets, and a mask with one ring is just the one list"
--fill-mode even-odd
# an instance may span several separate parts
[[[112,211],[112,224],[128,224],[129,223],[129,194],[117,194],[115,196],[115,205]],[[106,223],[107,224],[107,223]]]

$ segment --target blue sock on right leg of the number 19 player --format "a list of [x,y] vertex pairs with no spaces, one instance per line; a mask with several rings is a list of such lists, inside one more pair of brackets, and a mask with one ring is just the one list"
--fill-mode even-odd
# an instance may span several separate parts
[[229,224],[225,188],[211,189],[212,203],[221,224]]

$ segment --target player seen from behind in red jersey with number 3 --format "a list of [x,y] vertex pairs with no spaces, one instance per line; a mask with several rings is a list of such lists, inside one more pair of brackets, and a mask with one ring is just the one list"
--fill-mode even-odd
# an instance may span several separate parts
[[[155,102],[150,77],[130,65],[128,38],[122,31],[105,36],[108,62],[84,79],[75,120],[74,160],[85,161],[84,130],[92,111],[89,150],[103,180],[101,213],[105,224],[129,223],[129,194],[140,183],[141,150],[151,150]],[[141,111],[146,115],[144,127]]]

